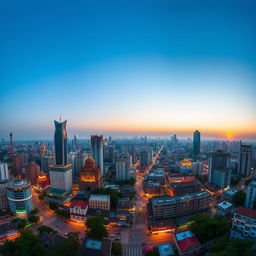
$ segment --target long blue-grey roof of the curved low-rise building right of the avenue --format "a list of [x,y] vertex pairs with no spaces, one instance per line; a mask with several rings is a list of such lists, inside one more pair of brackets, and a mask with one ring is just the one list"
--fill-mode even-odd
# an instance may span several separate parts
[[210,193],[207,191],[201,191],[201,192],[196,192],[190,195],[186,196],[161,196],[161,197],[153,197],[152,198],[152,204],[153,205],[168,205],[171,203],[177,203],[177,202],[183,202],[183,201],[188,201],[188,200],[194,200],[196,198],[202,198],[205,196],[210,196]]

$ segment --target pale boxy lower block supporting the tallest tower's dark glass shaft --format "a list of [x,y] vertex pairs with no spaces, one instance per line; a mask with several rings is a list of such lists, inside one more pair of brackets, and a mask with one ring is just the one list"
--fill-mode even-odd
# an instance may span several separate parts
[[71,164],[50,166],[50,182],[52,188],[63,189],[70,192],[73,186]]

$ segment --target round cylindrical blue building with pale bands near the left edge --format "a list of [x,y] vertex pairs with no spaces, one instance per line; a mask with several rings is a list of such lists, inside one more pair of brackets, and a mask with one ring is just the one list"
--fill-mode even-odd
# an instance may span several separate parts
[[15,215],[28,214],[32,210],[30,181],[15,179],[7,185],[7,198],[10,211]]

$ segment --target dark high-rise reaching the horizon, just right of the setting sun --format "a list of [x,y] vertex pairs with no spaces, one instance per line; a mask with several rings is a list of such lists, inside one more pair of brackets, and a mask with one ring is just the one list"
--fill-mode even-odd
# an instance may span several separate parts
[[240,145],[238,156],[238,174],[247,177],[251,173],[252,167],[252,146]]

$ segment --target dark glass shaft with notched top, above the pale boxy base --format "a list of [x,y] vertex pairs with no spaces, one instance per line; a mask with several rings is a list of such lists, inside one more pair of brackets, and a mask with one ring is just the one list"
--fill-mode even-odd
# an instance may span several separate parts
[[55,149],[55,164],[66,165],[68,163],[68,145],[67,145],[67,131],[66,124],[64,122],[54,121],[55,133],[54,133],[54,149]]

